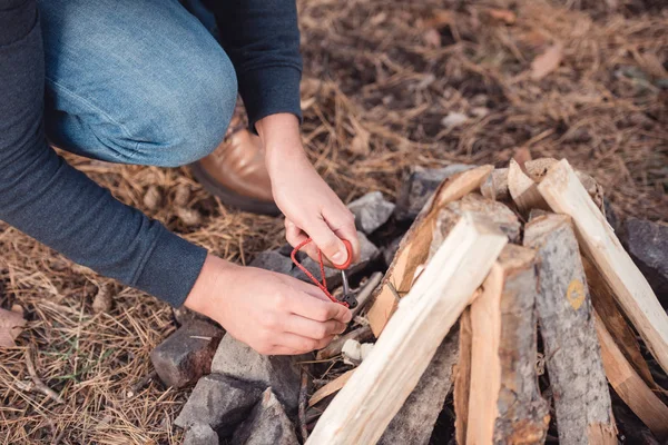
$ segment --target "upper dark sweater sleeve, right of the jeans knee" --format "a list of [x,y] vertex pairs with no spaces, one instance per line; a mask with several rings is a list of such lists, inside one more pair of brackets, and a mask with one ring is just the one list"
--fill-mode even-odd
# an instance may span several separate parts
[[208,0],[232,60],[248,125],[277,112],[302,120],[302,57],[295,0]]

